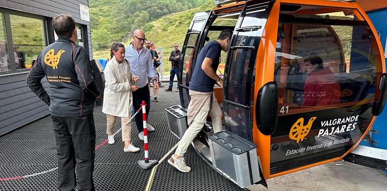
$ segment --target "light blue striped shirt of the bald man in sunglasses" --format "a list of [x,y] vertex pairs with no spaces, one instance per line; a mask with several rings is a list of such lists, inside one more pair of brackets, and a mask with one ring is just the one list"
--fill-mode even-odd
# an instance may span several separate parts
[[151,78],[157,75],[149,49],[143,47],[139,53],[133,45],[129,45],[125,48],[125,58],[129,61],[132,75],[140,77],[140,80],[137,83],[133,83],[131,85],[144,87],[148,84],[148,77]]

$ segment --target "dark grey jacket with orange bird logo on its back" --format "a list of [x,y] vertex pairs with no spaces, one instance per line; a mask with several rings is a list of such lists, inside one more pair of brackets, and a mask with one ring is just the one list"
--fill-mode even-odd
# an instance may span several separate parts
[[[50,83],[50,95],[41,83],[45,75]],[[50,106],[51,115],[57,117],[90,114],[96,97],[100,96],[87,51],[65,38],[59,38],[42,50],[27,76],[27,84]]]

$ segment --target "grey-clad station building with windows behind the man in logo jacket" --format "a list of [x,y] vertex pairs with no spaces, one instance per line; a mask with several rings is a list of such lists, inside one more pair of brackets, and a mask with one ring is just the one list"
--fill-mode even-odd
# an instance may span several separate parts
[[[76,43],[92,59],[88,0],[0,1],[0,136],[49,115],[26,77],[38,54],[57,38],[52,18],[62,13],[74,17]],[[47,89],[46,78],[42,81]]]

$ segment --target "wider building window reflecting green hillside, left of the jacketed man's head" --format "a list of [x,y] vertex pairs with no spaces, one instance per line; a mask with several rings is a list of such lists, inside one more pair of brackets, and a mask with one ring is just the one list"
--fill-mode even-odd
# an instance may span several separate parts
[[46,46],[44,21],[10,15],[16,69],[31,68]]

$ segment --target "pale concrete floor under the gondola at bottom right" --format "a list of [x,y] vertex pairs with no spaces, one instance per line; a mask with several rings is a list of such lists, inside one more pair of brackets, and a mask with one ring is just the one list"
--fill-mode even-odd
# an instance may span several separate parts
[[382,171],[346,162],[334,162],[267,180],[268,189],[251,185],[251,191],[371,191],[387,190],[387,175]]

